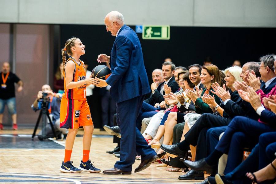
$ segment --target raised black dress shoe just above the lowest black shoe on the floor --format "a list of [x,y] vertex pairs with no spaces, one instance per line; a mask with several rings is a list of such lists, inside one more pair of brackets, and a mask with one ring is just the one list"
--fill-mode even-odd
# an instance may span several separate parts
[[184,164],[196,171],[206,171],[208,173],[213,173],[216,170],[216,166],[210,166],[208,163],[205,162],[205,159],[194,162],[185,160]]

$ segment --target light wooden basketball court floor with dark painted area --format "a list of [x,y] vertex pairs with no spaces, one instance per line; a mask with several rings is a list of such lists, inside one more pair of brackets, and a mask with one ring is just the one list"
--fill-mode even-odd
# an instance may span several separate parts
[[[65,141],[31,140],[32,129],[0,130],[0,183],[199,183],[200,180],[178,180],[179,172],[168,172],[168,167],[151,164],[146,170],[134,173],[140,160],[132,167],[132,175],[104,175],[82,172],[67,174],[59,171],[64,158]],[[71,156],[73,165],[78,167],[82,159],[82,134],[76,137]],[[101,134],[101,135],[99,135]],[[116,145],[113,138],[95,129],[92,138],[90,159],[102,171],[112,168],[119,160],[106,151]]]

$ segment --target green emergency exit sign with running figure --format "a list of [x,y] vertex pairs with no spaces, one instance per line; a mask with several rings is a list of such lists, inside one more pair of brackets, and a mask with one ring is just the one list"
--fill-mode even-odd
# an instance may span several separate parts
[[143,39],[170,39],[169,25],[143,25]]

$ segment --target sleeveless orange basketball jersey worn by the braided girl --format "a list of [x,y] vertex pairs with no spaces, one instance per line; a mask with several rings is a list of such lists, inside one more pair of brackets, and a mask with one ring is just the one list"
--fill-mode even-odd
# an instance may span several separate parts
[[[75,70],[74,70],[72,81],[73,82],[77,82],[77,81],[82,81],[82,80],[86,79],[86,70],[85,70],[83,61],[79,60],[79,62],[81,63],[81,64],[79,64],[72,57],[69,57],[67,59],[67,62],[69,60],[71,60],[71,61],[73,61],[75,63]],[[65,63],[65,65],[66,65],[66,63]],[[65,68],[65,66],[64,66],[64,68]],[[66,77],[65,70],[63,71],[63,76]],[[86,84],[83,84],[83,85],[81,85],[81,86],[79,86],[77,88],[67,89],[66,88],[66,81],[64,79],[64,93],[63,93],[63,97],[68,98],[68,99],[72,99],[72,100],[73,99],[74,100],[86,100]]]

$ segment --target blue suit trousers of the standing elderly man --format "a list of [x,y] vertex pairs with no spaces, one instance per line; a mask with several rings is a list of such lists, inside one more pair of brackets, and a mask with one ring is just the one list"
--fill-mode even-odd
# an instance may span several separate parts
[[138,96],[117,104],[117,124],[121,130],[120,161],[115,163],[116,168],[122,171],[131,171],[135,156],[141,155],[141,160],[147,160],[156,155],[148,145],[138,128],[136,121],[144,100]]

